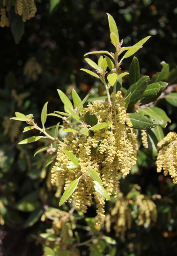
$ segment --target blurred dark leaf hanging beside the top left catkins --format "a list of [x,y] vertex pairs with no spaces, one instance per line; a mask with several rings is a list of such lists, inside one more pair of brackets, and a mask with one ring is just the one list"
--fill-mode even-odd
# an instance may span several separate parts
[[14,10],[10,10],[11,15],[11,32],[16,44],[19,44],[25,30],[25,23],[22,17],[15,13]]

